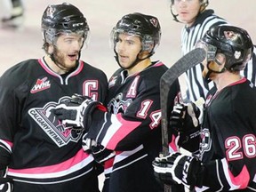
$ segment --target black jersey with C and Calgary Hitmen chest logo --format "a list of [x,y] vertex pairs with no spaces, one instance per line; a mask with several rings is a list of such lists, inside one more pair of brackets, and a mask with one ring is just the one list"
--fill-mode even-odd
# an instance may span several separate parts
[[84,61],[60,76],[44,59],[25,60],[1,76],[0,90],[0,148],[12,156],[7,176],[14,191],[99,191],[93,157],[82,149],[83,131],[66,129],[53,109],[73,93],[104,102],[107,76]]

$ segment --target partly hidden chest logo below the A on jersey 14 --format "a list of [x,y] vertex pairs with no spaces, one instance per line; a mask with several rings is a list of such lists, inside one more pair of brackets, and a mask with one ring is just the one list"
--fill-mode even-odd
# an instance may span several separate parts
[[131,105],[132,100],[123,100],[123,93],[120,92],[116,97],[108,103],[108,111],[113,114],[125,113],[126,109]]

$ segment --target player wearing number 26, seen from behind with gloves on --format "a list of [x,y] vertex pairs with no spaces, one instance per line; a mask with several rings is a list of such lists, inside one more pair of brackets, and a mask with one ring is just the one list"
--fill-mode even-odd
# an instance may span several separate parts
[[[200,156],[156,157],[156,177],[196,191],[255,191],[256,88],[239,75],[252,58],[252,40],[242,28],[219,26],[196,46],[207,52],[203,76],[217,88],[205,103]],[[173,110],[171,128],[189,131],[198,123],[198,114],[192,114],[184,105]]]

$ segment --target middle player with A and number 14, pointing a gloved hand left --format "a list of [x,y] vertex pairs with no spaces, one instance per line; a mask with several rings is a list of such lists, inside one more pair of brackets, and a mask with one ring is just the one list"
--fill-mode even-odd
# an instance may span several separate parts
[[[159,85],[168,69],[160,60],[150,59],[160,44],[159,21],[139,12],[127,14],[117,22],[111,36],[120,68],[108,81],[108,112],[92,110],[90,99],[85,99],[83,107],[62,104],[56,113],[63,123],[76,125],[84,120],[88,129],[84,148],[91,148],[97,161],[104,164],[102,191],[161,191],[151,164],[162,151]],[[170,108],[179,100],[179,92],[177,81],[170,92]],[[72,110],[77,116],[72,117]]]

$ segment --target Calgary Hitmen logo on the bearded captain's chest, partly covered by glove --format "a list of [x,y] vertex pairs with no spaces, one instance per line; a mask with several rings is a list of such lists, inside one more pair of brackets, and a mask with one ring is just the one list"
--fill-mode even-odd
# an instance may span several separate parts
[[51,138],[59,147],[65,146],[68,142],[77,142],[83,133],[83,129],[74,130],[72,127],[66,127],[61,124],[57,116],[54,115],[54,108],[60,104],[62,100],[70,97],[60,98],[59,102],[48,102],[43,108],[31,108],[28,111],[41,129]]

